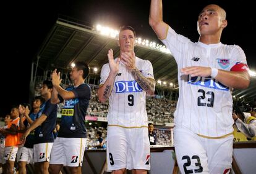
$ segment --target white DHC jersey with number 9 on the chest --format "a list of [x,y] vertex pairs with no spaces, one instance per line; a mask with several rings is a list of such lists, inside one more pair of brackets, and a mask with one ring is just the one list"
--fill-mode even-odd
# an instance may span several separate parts
[[[136,57],[135,66],[143,76],[154,79],[150,61]],[[100,85],[108,79],[109,72],[109,64],[106,63],[101,69]],[[119,71],[109,96],[108,125],[127,128],[148,127],[146,92],[135,81],[134,76],[122,61],[119,63]]]

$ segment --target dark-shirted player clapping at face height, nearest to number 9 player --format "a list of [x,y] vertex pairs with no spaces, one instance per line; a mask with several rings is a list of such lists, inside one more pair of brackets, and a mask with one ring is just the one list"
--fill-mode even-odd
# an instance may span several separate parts
[[[50,173],[59,174],[63,165],[71,173],[82,173],[83,154],[86,146],[85,116],[91,96],[91,89],[85,84],[90,68],[85,62],[75,62],[70,72],[74,85],[62,89],[61,73],[55,69],[51,74],[53,82],[52,103],[62,103],[61,127],[51,152]],[[65,149],[65,150],[64,150]]]

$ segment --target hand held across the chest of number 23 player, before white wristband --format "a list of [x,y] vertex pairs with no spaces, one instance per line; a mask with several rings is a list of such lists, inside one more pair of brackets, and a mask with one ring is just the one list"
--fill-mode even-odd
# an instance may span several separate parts
[[203,66],[188,66],[186,68],[181,68],[181,73],[184,73],[186,75],[190,74],[192,77],[208,77],[211,76],[211,68]]

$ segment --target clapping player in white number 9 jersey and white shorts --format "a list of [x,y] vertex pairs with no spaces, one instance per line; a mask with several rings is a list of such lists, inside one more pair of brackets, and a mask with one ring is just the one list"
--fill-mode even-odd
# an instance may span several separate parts
[[146,93],[155,91],[153,67],[148,60],[135,57],[135,31],[131,26],[119,30],[120,55],[101,69],[98,97],[109,98],[107,161],[112,173],[147,173],[150,170],[150,144]]

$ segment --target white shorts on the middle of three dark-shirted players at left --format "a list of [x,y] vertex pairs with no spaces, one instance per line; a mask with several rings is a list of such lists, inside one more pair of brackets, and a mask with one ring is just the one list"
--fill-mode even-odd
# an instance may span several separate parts
[[51,154],[51,148],[53,148],[53,143],[39,143],[34,144],[33,148],[33,161],[34,162],[49,162],[49,157]]

